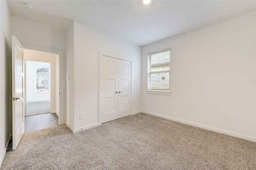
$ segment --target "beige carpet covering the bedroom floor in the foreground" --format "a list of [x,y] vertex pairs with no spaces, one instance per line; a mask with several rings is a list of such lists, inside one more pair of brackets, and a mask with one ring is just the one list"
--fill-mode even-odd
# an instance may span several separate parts
[[250,142],[143,113],[73,134],[66,125],[24,134],[1,170],[253,170]]

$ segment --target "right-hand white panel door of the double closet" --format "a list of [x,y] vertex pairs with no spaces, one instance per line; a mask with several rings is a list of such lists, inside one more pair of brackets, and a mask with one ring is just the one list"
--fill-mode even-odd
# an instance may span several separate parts
[[118,118],[131,115],[131,62],[118,64]]

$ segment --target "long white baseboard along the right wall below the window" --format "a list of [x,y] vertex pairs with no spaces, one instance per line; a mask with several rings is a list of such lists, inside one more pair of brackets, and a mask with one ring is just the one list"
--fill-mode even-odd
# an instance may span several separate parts
[[221,129],[213,128],[213,127],[208,127],[208,126],[205,126],[205,125],[200,125],[200,124],[192,123],[192,122],[188,122],[188,121],[182,121],[180,119],[175,119],[175,118],[172,118],[172,117],[158,115],[156,113],[151,113],[151,112],[147,112],[147,111],[141,111],[141,112],[146,113],[148,115],[153,115],[153,116],[156,116],[156,117],[161,117],[161,118],[164,118],[164,119],[168,119],[168,120],[171,120],[171,121],[184,123],[186,125],[191,125],[191,126],[194,126],[194,127],[199,127],[199,128],[203,128],[203,129],[206,129],[206,130],[211,130],[211,131],[214,131],[214,132],[227,134],[227,135],[234,136],[234,137],[237,137],[237,138],[242,138],[242,139],[250,140],[252,142],[256,142],[256,138],[253,138],[253,137],[250,137],[250,136],[245,136],[245,135],[242,135],[242,134],[237,134],[237,133],[234,133],[234,132],[229,132],[229,131],[226,131],[226,130],[221,130]]

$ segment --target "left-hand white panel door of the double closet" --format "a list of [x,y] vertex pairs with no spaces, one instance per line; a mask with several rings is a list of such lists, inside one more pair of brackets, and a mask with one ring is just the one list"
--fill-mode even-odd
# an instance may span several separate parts
[[102,123],[118,119],[118,59],[102,61]]

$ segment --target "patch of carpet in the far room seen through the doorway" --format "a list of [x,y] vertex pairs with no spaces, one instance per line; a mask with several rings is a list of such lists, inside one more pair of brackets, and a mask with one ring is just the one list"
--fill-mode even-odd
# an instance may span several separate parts
[[27,102],[26,116],[40,115],[44,113],[51,113],[50,101],[33,101]]

